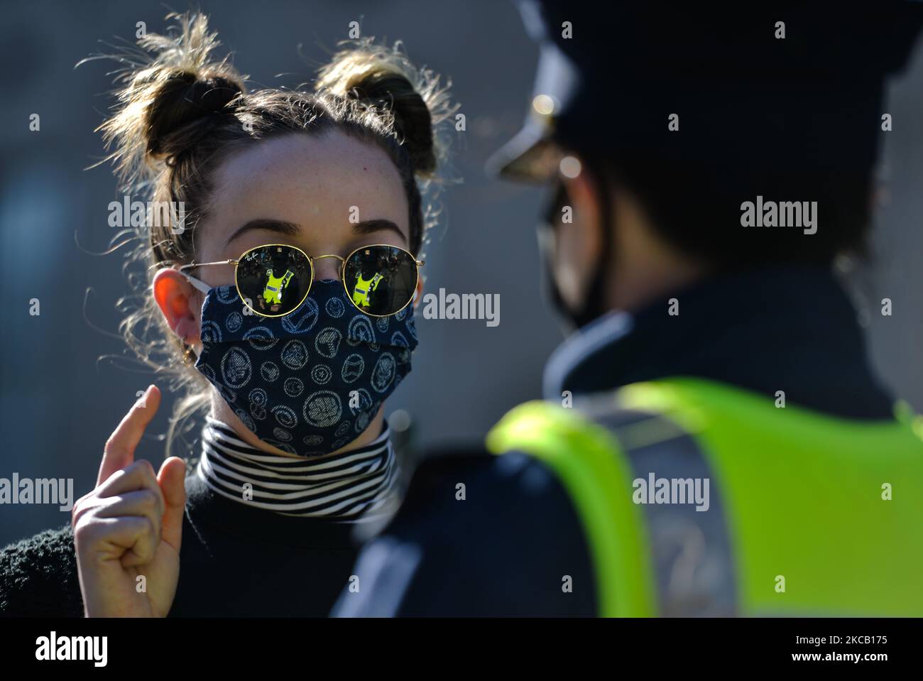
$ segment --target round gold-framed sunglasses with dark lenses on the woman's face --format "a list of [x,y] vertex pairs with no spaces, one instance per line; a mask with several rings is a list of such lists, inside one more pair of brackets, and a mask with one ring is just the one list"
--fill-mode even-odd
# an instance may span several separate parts
[[314,261],[335,257],[342,261],[340,281],[346,297],[369,317],[389,317],[410,305],[425,263],[398,246],[364,245],[347,257],[308,256],[293,245],[267,244],[246,251],[236,260],[190,263],[177,268],[202,293],[209,285],[185,269],[234,265],[237,294],[261,317],[285,317],[305,302],[314,281]]

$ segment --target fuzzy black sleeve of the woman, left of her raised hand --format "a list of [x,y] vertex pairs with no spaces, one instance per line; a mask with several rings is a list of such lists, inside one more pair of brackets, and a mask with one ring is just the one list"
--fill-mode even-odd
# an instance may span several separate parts
[[70,526],[0,550],[0,616],[83,616]]

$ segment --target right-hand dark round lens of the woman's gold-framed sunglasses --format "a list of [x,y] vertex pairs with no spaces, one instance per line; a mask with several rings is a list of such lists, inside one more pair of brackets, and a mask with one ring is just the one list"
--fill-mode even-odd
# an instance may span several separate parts
[[373,245],[346,260],[343,283],[367,315],[385,317],[406,307],[416,290],[416,261],[402,248]]

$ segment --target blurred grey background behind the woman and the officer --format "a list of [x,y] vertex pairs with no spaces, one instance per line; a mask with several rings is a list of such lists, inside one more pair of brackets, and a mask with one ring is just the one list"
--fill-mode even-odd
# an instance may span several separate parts
[[[166,385],[134,364],[117,334],[115,301],[126,293],[123,256],[93,256],[114,234],[108,204],[120,200],[93,128],[112,103],[109,62],[74,69],[100,40],[134,41],[136,23],[162,32],[182,5],[159,2],[2,3],[0,63],[0,478],[73,478],[74,497],[90,491],[102,446],[138,390]],[[511,406],[540,396],[542,366],[561,340],[545,302],[533,224],[538,189],[485,177],[484,161],[519,128],[532,90],[537,50],[507,2],[201,2],[222,50],[261,86],[310,81],[351,21],[364,35],[400,39],[418,65],[452,80],[467,130],[454,134],[454,174],[442,219],[426,252],[426,286],[499,293],[500,324],[420,317],[414,372],[387,412],[413,416],[422,448],[476,442]],[[919,46],[917,46],[918,48]],[[874,252],[855,277],[870,352],[893,392],[923,410],[923,54],[891,89],[893,132],[881,162],[885,191]],[[282,74],[282,76],[280,76]],[[41,130],[30,131],[30,114]],[[75,238],[76,234],[76,238]],[[82,246],[78,247],[79,245]],[[89,292],[89,293],[88,293]],[[893,317],[881,317],[881,298]],[[41,315],[29,314],[31,298]],[[831,339],[835,342],[835,339]],[[117,355],[122,360],[101,360]],[[159,464],[172,412],[164,403],[138,458]],[[176,452],[180,453],[180,452]],[[0,505],[0,546],[69,522],[53,506]]]

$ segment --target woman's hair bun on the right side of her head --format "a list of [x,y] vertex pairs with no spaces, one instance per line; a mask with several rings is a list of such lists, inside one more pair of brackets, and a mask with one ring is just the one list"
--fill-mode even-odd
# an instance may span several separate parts
[[334,54],[318,77],[318,91],[360,102],[383,114],[394,135],[414,163],[414,173],[430,176],[444,156],[436,129],[454,113],[448,85],[438,76],[415,67],[402,51],[377,45],[371,38],[342,42],[346,49]]

